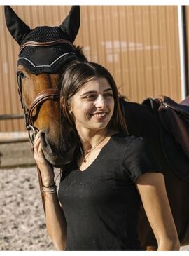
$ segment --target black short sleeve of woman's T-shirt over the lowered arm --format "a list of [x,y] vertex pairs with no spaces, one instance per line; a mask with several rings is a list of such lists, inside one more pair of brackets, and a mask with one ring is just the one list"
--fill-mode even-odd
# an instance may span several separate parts
[[134,137],[123,159],[123,172],[133,182],[144,173],[162,173],[155,155],[143,137]]

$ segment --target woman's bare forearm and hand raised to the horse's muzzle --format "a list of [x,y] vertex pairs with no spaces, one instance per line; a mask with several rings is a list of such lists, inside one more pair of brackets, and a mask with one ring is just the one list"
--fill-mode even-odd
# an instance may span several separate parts
[[[41,149],[40,132],[36,135],[34,141],[34,159],[41,172],[41,178],[45,187],[50,187],[54,184],[54,171],[43,156]],[[49,191],[50,188],[45,188]],[[45,218],[48,235],[52,239],[52,243],[57,250],[66,249],[66,219],[64,212],[59,204],[56,191],[53,193],[44,192],[45,199]]]

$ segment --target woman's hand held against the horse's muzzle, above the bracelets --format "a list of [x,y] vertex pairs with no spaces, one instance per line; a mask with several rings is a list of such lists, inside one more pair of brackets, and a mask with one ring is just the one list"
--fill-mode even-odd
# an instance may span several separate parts
[[34,140],[34,159],[36,161],[36,164],[41,172],[41,178],[43,185],[45,187],[49,187],[52,184],[54,184],[54,171],[53,168],[50,166],[48,161],[46,161],[43,150],[41,147],[41,132],[39,131],[36,135],[36,138]]

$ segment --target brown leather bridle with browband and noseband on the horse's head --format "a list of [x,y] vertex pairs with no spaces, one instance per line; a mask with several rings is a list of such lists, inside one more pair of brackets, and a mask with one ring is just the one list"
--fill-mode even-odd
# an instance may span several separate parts
[[[42,42],[42,43],[35,42],[35,41],[28,41],[21,46],[20,52],[26,46],[48,47],[48,46],[53,46],[59,43],[69,44],[69,46],[71,46],[74,49],[74,46],[72,45],[71,42],[65,39],[59,39],[56,41]],[[41,91],[41,93],[38,93],[38,95],[36,95],[36,98],[34,99],[34,101],[31,103],[29,107],[27,107],[22,95],[22,78],[19,73],[17,74],[17,81],[18,81],[18,94],[20,96],[20,102],[22,105],[22,109],[24,109],[24,112],[25,112],[25,127],[28,131],[29,141],[33,145],[36,134],[38,133],[38,128],[34,126],[34,118],[33,118],[34,109],[36,109],[36,107],[40,107],[41,103],[45,102],[46,100],[58,101],[60,97],[60,91],[57,89],[43,90]]]

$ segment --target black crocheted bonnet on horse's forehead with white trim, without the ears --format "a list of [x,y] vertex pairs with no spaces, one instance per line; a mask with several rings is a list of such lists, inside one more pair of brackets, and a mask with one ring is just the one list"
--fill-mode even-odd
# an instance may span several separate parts
[[[27,41],[50,42],[66,39],[59,27],[36,27],[25,37],[21,46]],[[76,58],[73,47],[67,43],[55,46],[26,46],[19,54],[18,65],[26,67],[33,74],[56,73],[65,60]]]

